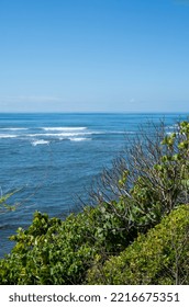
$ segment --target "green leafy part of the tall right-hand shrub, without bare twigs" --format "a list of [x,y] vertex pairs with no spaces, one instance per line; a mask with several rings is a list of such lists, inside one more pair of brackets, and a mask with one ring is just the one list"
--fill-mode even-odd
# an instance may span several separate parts
[[[133,220],[145,229],[180,203],[189,202],[189,123],[180,123],[178,132],[166,135],[160,146],[165,155],[151,168],[141,162],[140,175],[126,197]],[[138,168],[138,163],[134,166]]]

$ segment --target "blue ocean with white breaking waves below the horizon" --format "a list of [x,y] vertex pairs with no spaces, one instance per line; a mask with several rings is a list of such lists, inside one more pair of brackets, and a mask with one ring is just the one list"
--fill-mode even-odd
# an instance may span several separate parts
[[187,114],[0,114],[0,193],[18,191],[8,203],[14,212],[0,214],[0,257],[9,252],[8,237],[26,228],[33,213],[65,217],[103,168],[123,150],[125,134],[164,118],[171,132]]

